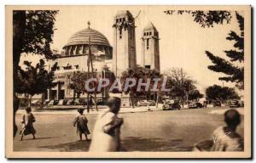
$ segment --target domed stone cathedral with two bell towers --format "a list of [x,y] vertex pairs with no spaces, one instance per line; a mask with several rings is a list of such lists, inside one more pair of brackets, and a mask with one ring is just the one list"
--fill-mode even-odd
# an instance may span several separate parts
[[[90,27],[90,22],[87,28],[69,38],[63,51],[49,61],[49,66],[58,63],[54,81],[57,85],[45,93],[45,99],[73,98],[73,90],[69,88],[71,77],[75,71],[88,70],[89,53],[93,70],[99,76],[108,69],[120,77],[124,70],[137,65],[160,71],[159,33],[151,22],[144,27],[143,35],[137,36],[135,19],[130,11],[124,10],[114,16],[112,28],[113,46],[100,31]],[[137,63],[136,37],[141,37],[141,64]],[[86,97],[85,93],[80,95],[80,98]]]

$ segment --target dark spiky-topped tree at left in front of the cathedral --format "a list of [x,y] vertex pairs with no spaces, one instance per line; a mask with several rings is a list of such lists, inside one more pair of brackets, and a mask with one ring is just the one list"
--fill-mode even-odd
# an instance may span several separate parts
[[32,96],[35,94],[45,93],[45,91],[51,87],[55,87],[54,76],[57,69],[57,63],[48,72],[44,69],[44,59],[40,59],[39,63],[33,67],[32,62],[24,61],[26,70],[19,68],[17,79],[18,87],[16,93],[25,93],[30,95],[30,103]]

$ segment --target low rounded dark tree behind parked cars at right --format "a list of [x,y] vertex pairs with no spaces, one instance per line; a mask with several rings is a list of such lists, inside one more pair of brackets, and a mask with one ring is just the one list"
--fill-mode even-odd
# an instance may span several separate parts
[[218,85],[207,87],[206,95],[207,95],[207,99],[209,100],[228,100],[228,99],[239,98],[234,88],[220,87]]

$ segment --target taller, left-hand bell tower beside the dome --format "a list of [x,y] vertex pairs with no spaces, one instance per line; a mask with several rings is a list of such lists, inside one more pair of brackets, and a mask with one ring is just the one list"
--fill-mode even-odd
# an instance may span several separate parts
[[130,11],[119,11],[113,19],[113,72],[119,77],[137,65],[135,21]]

